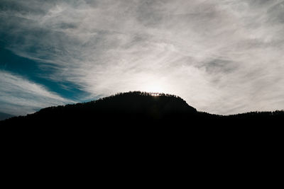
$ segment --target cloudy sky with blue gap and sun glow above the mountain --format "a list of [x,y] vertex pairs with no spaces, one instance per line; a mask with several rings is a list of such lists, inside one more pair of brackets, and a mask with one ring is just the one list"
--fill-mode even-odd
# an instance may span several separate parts
[[127,91],[283,110],[283,34],[283,0],[1,0],[0,112]]

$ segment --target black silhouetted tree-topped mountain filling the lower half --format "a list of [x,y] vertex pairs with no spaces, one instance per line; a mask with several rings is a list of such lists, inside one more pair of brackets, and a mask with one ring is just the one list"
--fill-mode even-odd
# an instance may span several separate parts
[[33,171],[33,181],[47,185],[52,176],[80,187],[84,180],[271,187],[282,164],[283,118],[280,111],[210,115],[177,96],[121,93],[0,122],[2,168],[8,178]]

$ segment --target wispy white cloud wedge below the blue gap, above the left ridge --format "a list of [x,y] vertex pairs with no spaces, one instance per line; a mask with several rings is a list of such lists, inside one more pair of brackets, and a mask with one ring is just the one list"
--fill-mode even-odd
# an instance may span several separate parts
[[0,112],[2,113],[26,115],[52,105],[75,103],[22,76],[1,70],[0,88]]

